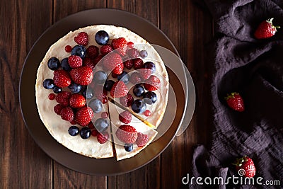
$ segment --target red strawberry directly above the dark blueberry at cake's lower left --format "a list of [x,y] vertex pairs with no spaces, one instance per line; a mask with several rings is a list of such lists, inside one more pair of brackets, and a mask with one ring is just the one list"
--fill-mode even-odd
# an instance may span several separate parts
[[90,107],[84,106],[76,112],[76,122],[81,126],[86,126],[93,118],[93,110]]

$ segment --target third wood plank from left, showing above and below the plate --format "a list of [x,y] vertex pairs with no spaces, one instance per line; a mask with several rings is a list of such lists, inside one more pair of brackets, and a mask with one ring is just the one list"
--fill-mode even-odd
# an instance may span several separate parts
[[[135,13],[158,25],[158,1],[108,0],[108,8]],[[160,188],[160,158],[131,173],[108,177],[108,188]]]

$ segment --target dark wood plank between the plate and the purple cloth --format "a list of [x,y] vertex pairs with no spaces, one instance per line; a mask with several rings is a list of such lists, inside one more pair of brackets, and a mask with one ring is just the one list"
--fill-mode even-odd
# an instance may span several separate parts
[[[190,173],[193,145],[207,144],[209,138],[211,106],[207,78],[212,64],[204,61],[204,47],[212,39],[212,18],[192,0],[161,0],[160,28],[172,40],[187,65],[197,94],[190,127],[161,154],[161,188],[180,188],[183,176]],[[170,174],[168,170],[171,170]]]

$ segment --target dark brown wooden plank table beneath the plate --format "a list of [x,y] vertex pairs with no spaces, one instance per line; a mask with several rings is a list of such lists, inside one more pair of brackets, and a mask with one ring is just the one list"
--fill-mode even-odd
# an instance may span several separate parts
[[[197,103],[190,127],[158,158],[120,176],[89,176],[50,159],[34,142],[21,116],[18,84],[35,40],[56,21],[91,8],[118,8],[146,18],[178,49],[195,82]],[[190,173],[193,146],[209,144],[213,62],[205,62],[212,17],[192,0],[11,0],[0,4],[0,188],[179,188]]]

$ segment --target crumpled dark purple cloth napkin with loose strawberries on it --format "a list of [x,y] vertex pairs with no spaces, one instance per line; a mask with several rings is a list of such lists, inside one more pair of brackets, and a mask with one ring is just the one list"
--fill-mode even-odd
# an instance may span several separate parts
[[[193,188],[283,188],[283,1],[204,0],[216,23],[211,62],[214,132],[210,147],[195,148],[194,177],[239,176],[231,162],[247,155],[256,166],[262,185],[197,185]],[[274,18],[281,25],[275,36],[253,37],[261,21]],[[208,52],[211,51],[208,50]],[[224,101],[239,92],[246,110],[238,113]],[[202,180],[203,181],[203,180]],[[255,180],[256,181],[256,180]],[[280,185],[263,185],[279,181]],[[278,183],[277,183],[278,184]]]

